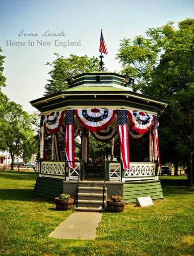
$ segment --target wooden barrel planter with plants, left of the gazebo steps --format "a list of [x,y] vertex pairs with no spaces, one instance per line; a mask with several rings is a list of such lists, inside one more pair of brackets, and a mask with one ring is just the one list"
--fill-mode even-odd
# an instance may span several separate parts
[[73,206],[74,198],[68,194],[61,194],[55,198],[56,210],[66,211]]

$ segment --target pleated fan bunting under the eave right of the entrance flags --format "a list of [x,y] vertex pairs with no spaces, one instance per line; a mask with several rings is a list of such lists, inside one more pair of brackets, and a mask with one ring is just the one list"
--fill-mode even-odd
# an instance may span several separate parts
[[142,111],[132,112],[127,111],[131,127],[140,134],[144,134],[153,123],[153,116]]

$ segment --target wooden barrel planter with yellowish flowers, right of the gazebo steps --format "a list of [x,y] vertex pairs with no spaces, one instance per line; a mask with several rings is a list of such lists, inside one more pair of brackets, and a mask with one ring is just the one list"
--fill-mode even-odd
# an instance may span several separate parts
[[108,212],[123,212],[126,202],[121,196],[111,196],[111,199],[107,199],[106,209]]

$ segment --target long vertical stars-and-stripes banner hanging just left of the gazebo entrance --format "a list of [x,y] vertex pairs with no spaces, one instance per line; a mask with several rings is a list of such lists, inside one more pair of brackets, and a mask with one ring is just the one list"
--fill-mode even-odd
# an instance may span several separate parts
[[74,168],[74,112],[65,111],[65,152],[68,166]]

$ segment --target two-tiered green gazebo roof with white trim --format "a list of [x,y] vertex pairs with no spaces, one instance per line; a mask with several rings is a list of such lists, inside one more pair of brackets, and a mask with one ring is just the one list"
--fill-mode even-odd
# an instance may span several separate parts
[[93,108],[141,110],[159,114],[168,102],[132,91],[134,79],[109,72],[91,72],[67,80],[68,89],[31,101],[42,113]]

